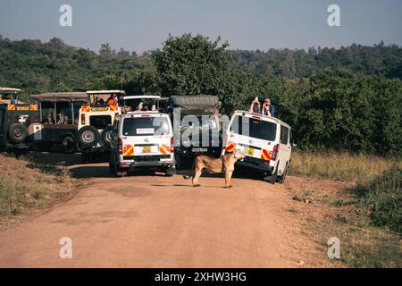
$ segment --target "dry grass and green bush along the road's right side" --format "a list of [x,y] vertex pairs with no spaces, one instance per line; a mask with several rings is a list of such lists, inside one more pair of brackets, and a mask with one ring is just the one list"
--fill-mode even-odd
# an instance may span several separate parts
[[[364,175],[357,183],[351,182],[350,187],[335,192],[327,189],[308,191],[324,214],[322,219],[314,220],[314,225],[309,224],[309,228],[320,241],[332,236],[339,238],[340,262],[344,265],[402,267],[402,168],[389,163],[388,170],[373,174],[367,171],[371,164],[366,158],[359,156],[358,162],[362,164]],[[363,168],[364,163],[368,165]],[[381,160],[377,163],[386,167]],[[345,167],[339,170],[343,169]],[[318,169],[317,173],[320,172],[322,170]],[[327,245],[322,247],[327,248]],[[332,262],[339,266],[338,261]]]

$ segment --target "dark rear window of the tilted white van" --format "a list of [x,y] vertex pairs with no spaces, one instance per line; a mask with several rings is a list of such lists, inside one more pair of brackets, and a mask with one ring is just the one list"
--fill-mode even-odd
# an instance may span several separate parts
[[230,125],[230,132],[255,139],[274,141],[276,139],[276,124],[236,115]]

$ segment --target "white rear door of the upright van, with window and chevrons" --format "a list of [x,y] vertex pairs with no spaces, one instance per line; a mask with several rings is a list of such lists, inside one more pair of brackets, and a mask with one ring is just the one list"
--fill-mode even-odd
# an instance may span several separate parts
[[123,156],[171,154],[172,124],[168,116],[134,115],[122,122]]

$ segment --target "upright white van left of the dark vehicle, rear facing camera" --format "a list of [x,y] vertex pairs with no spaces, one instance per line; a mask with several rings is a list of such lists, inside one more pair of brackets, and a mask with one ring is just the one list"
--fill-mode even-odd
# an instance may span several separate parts
[[173,130],[168,114],[128,112],[113,124],[110,172],[124,176],[136,168],[175,173]]

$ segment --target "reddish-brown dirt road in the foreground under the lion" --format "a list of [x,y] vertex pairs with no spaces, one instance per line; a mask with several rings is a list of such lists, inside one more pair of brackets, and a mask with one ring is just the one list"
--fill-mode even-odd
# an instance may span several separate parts
[[[220,177],[202,187],[180,175],[142,173],[114,178],[106,164],[80,165],[85,178],[73,198],[0,233],[0,266],[17,267],[294,267],[316,265],[289,208],[288,182],[247,176],[222,189]],[[298,203],[300,204],[300,203]],[[62,259],[59,240],[72,240]],[[324,253],[322,253],[324,257]]]

